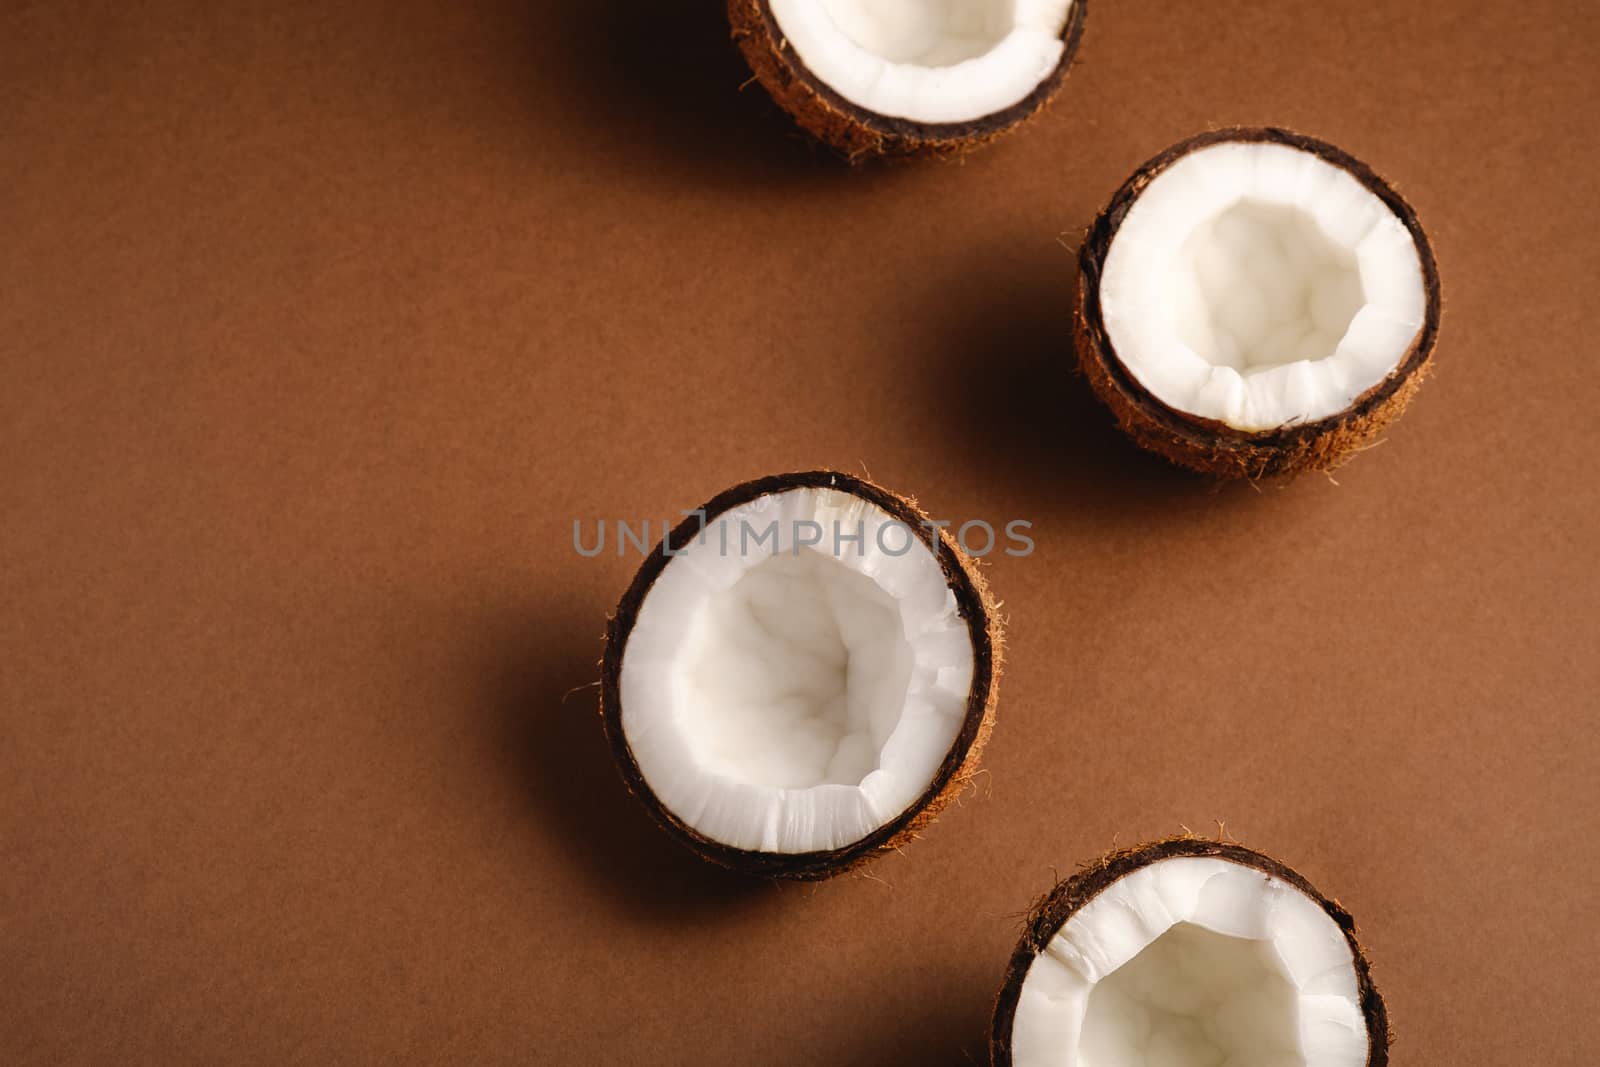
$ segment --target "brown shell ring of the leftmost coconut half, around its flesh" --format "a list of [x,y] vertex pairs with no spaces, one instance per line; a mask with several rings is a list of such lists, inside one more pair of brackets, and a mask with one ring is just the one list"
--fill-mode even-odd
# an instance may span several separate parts
[[[994,728],[995,699],[998,696],[1000,678],[1000,616],[989,595],[989,587],[978,571],[978,563],[962,550],[960,542],[939,530],[934,533],[926,526],[926,515],[914,501],[890,493],[870,482],[864,482],[848,474],[835,470],[810,470],[805,474],[773,475],[746,482],[715,496],[704,506],[706,523],[714,523],[723,514],[747,504],[760,496],[784,493],[787,490],[829,488],[858,496],[890,517],[904,523],[934,553],[944,581],[955,597],[955,606],[966,621],[968,635],[973,641],[973,683],[966,696],[966,712],[962,729],[946,753],[944,761],[933,781],[922,792],[915,803],[904,813],[878,827],[859,841],[843,848],[813,853],[762,853],[733,848],[720,841],[706,838],[691,825],[669,811],[650,782],[638,769],[634,752],[622,733],[622,657],[627,653],[627,638],[638,609],[645,603],[651,585],[661,576],[670,557],[666,545],[658,545],[634,576],[634,582],[622,593],[622,600],[606,625],[605,657],[600,667],[600,718],[611,755],[629,792],[643,805],[650,817],[680,845],[696,856],[763,878],[795,878],[819,880],[851,870],[869,859],[899,848],[915,838],[933,819],[955,800],[978,771],[978,761],[989,731]],[[690,517],[680,523],[667,539],[672,550],[682,550],[699,534],[701,520]]]

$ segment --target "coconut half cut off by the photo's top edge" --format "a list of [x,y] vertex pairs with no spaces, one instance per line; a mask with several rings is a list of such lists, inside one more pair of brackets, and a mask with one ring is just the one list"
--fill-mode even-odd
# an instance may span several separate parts
[[851,158],[955,155],[1030,118],[1072,66],[1088,0],[730,0],[778,104]]

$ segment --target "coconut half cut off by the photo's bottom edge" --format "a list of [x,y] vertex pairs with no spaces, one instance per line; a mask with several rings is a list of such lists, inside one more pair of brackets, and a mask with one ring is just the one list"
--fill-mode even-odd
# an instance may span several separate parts
[[997,1067],[1381,1067],[1355,925],[1240,845],[1112,853],[1034,909],[995,1006]]

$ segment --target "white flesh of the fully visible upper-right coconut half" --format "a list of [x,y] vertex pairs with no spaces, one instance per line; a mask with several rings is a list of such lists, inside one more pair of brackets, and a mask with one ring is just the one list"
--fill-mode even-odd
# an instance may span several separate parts
[[1099,302],[1150,395],[1240,430],[1347,410],[1427,310],[1400,218],[1344,168],[1270,142],[1213,144],[1157,174],[1112,238]]

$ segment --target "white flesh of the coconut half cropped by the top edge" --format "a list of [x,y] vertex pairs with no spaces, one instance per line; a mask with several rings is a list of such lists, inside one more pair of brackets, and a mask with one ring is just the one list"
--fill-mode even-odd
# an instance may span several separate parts
[[878,115],[973,122],[1027,98],[1061,62],[1074,0],[770,0],[794,53]]

